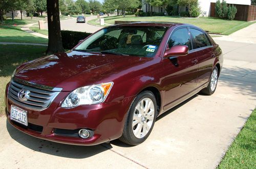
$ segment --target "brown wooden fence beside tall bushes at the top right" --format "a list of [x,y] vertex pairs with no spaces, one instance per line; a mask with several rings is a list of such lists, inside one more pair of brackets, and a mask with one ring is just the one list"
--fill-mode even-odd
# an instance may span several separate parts
[[[211,17],[217,17],[216,12],[215,12],[215,4],[216,3],[210,3],[210,16]],[[227,5],[232,5],[232,4],[227,4]],[[237,4],[234,4],[234,6],[238,10],[236,16],[234,17],[234,20],[243,20],[243,21],[256,20],[256,6],[237,5]]]

